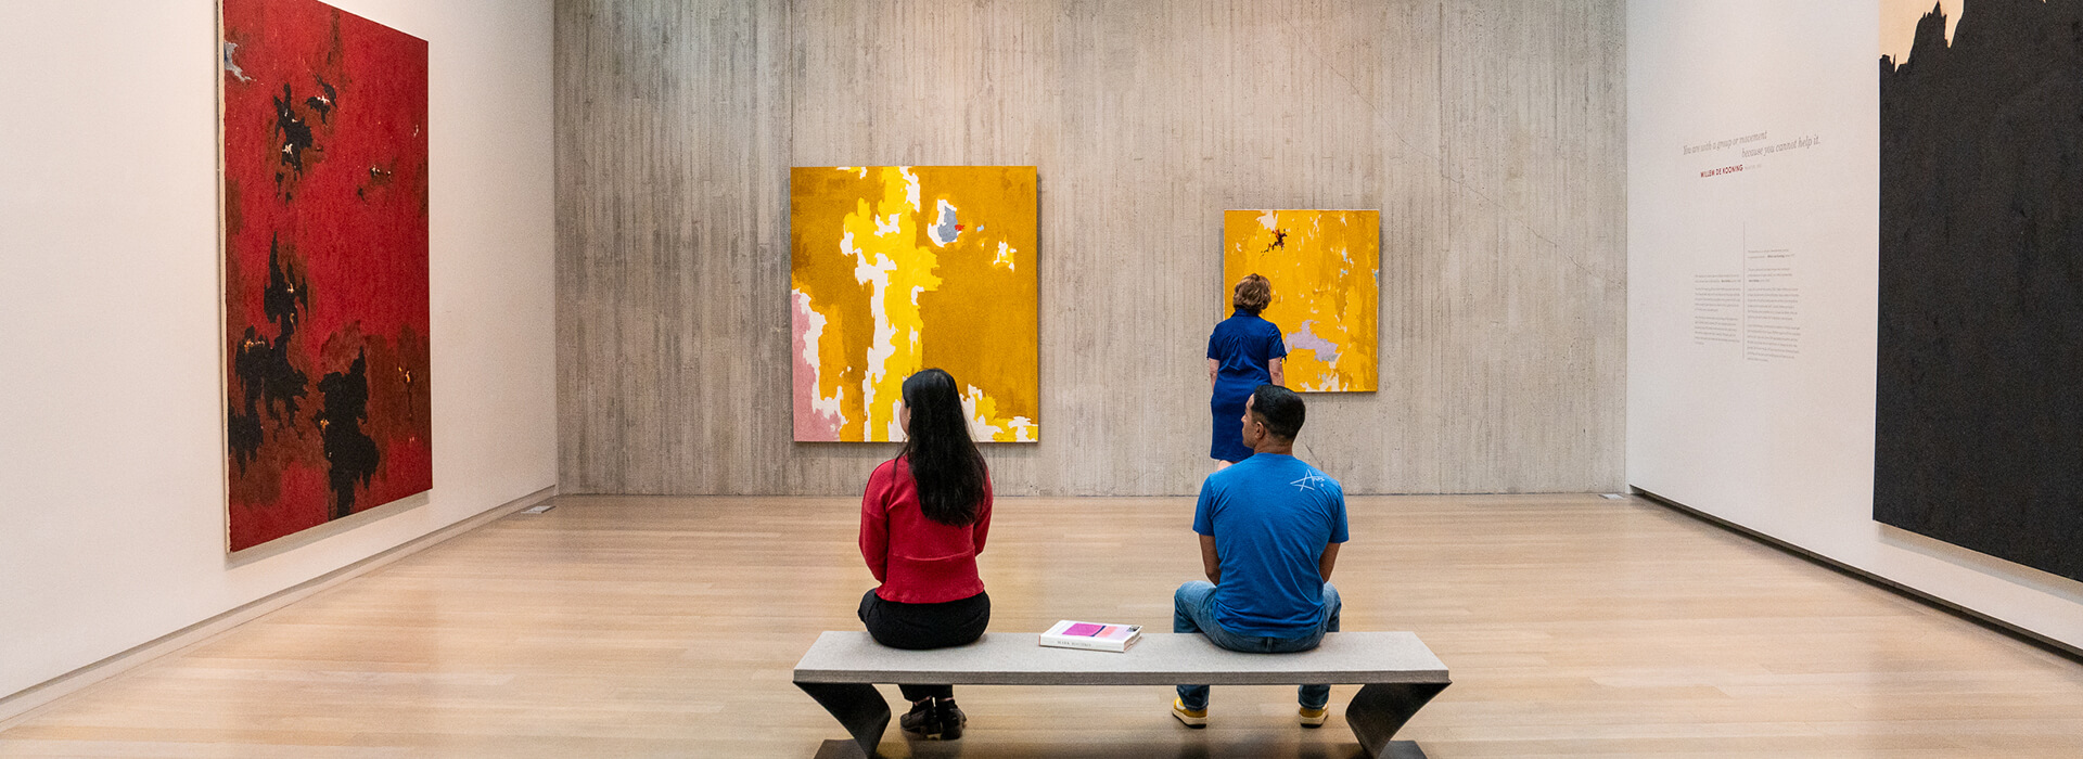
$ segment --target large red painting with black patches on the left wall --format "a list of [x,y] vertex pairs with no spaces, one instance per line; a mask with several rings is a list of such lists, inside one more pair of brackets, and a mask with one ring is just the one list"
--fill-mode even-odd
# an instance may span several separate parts
[[231,551],[433,487],[427,42],[223,0]]

